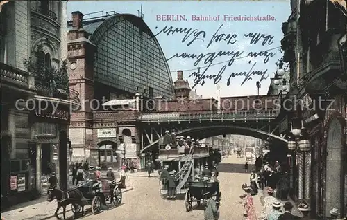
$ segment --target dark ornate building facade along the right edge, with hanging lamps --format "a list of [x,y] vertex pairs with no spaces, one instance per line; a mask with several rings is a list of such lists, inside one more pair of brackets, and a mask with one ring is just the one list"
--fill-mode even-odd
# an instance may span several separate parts
[[327,219],[347,203],[346,1],[291,1],[282,26],[284,61],[290,66],[287,126],[294,197],[312,218]]

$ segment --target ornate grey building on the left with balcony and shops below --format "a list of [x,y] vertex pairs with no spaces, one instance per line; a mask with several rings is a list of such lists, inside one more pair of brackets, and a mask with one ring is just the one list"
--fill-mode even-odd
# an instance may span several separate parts
[[66,1],[8,1],[0,12],[1,195],[69,182]]

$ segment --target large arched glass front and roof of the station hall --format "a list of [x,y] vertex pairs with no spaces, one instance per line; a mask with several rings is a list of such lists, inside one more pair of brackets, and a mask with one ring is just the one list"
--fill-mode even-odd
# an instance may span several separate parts
[[173,98],[169,66],[157,39],[135,15],[116,14],[83,21],[96,45],[94,80],[144,97]]

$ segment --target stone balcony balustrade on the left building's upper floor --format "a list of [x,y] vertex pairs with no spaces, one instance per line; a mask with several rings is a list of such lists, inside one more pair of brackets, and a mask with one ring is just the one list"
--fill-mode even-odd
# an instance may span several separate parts
[[0,75],[1,81],[11,82],[21,86],[35,86],[33,75],[19,68],[9,66],[0,62]]

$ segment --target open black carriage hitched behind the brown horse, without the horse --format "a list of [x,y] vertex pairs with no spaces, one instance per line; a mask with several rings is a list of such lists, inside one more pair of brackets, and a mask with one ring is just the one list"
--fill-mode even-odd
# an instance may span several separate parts
[[100,212],[102,205],[106,205],[106,201],[110,201],[114,207],[119,206],[122,199],[119,184],[116,180],[108,181],[107,179],[81,183],[77,189],[82,192],[84,198],[71,204],[72,212],[74,214],[83,212],[85,205],[92,205],[92,212],[96,214]]

